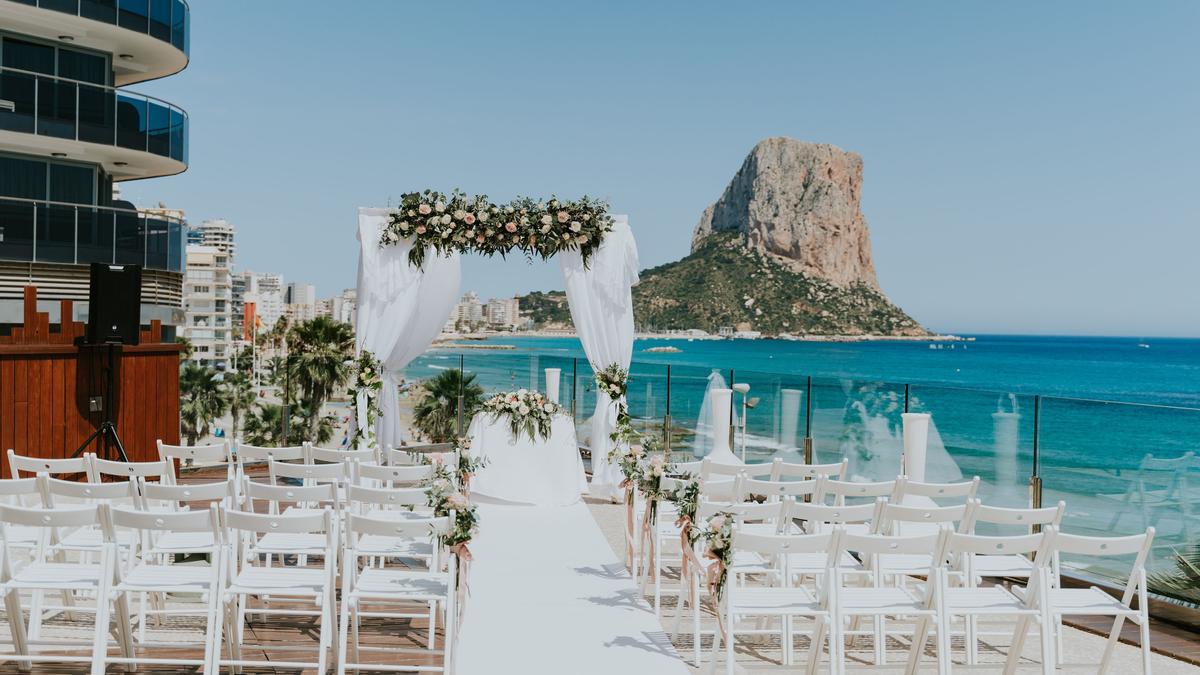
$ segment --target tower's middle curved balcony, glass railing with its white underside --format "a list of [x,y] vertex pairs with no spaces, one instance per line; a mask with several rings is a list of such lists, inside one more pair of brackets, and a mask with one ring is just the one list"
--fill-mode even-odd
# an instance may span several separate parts
[[103,165],[116,180],[187,168],[187,113],[166,101],[0,68],[0,145]]

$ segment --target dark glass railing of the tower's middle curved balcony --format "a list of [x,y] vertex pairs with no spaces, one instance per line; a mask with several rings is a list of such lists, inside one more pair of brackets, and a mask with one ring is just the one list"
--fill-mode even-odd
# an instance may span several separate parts
[[187,163],[187,113],[155,98],[0,67],[0,130],[152,153]]

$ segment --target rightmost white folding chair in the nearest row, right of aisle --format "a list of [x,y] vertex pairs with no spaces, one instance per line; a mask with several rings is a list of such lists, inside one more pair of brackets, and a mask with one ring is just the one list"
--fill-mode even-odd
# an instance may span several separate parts
[[[1129,571],[1129,580],[1120,598],[1112,597],[1103,590],[1091,586],[1088,589],[1063,589],[1061,583],[1056,583],[1044,596],[1042,607],[1042,620],[1051,626],[1058,626],[1063,616],[1112,616],[1112,629],[1104,645],[1104,655],[1097,667],[1097,673],[1108,670],[1112,661],[1112,651],[1121,638],[1121,627],[1128,619],[1138,626],[1141,641],[1141,669],[1150,675],[1150,599],[1146,589],[1146,560],[1150,557],[1150,548],[1154,542],[1154,528],[1147,527],[1141,534],[1128,537],[1085,537],[1082,534],[1066,534],[1058,532],[1054,537],[1054,550],[1060,555],[1079,555],[1088,557],[1109,556],[1134,556],[1133,567]],[[1056,580],[1057,581],[1057,580]],[[1021,596],[1021,589],[1014,589]],[[1138,609],[1133,608],[1133,599],[1138,598]],[[1016,627],[1013,638],[1013,647],[1008,655],[1006,673],[1013,673],[1016,667],[1016,658],[1020,656],[1021,645],[1025,640],[1025,631],[1028,620],[1022,621]],[[1062,663],[1063,667],[1073,664]]]

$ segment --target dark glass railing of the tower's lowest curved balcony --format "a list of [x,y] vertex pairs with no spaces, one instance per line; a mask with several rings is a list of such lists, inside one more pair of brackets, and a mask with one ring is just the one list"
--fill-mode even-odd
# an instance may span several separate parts
[[184,270],[184,221],[130,209],[0,198],[0,261]]

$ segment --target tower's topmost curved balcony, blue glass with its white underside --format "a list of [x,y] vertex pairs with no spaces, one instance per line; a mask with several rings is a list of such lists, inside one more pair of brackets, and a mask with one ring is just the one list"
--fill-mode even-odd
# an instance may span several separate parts
[[187,67],[186,0],[0,0],[0,25],[112,54],[118,85]]

